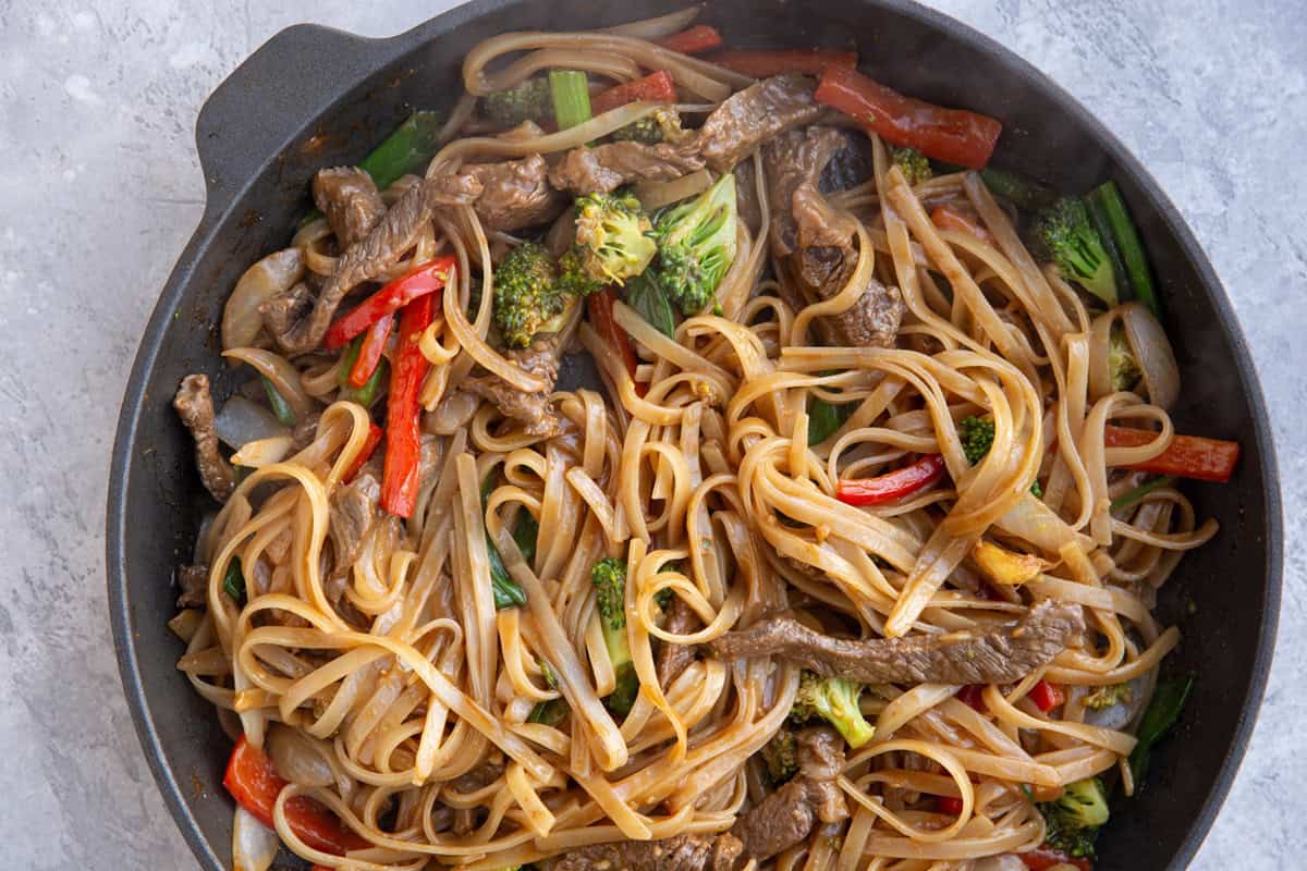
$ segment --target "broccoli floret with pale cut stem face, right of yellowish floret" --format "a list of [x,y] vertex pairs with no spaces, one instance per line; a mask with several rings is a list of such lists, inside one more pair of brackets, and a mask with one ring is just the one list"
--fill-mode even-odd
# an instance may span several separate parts
[[735,175],[659,213],[659,283],[685,315],[707,308],[736,253]]

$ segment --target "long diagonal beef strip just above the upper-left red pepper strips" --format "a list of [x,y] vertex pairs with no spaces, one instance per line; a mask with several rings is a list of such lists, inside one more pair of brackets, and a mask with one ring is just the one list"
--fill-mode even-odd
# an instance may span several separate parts
[[417,242],[418,232],[438,206],[467,205],[478,196],[481,183],[471,175],[438,175],[410,187],[367,236],[340,256],[311,312],[280,332],[264,321],[277,343],[290,354],[305,354],[318,347],[345,294],[393,266]]

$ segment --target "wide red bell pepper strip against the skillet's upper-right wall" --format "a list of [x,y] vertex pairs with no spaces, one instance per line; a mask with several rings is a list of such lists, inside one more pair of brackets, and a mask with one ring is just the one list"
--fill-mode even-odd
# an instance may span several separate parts
[[826,67],[813,98],[867,124],[890,145],[972,170],[989,162],[1002,132],[1002,124],[988,115],[903,97],[839,64]]

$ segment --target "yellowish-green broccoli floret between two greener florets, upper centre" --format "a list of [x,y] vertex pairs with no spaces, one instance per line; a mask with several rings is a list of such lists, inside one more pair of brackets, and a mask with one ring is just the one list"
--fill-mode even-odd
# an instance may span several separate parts
[[640,201],[629,193],[592,193],[576,198],[576,255],[587,278],[622,285],[644,272],[657,244]]

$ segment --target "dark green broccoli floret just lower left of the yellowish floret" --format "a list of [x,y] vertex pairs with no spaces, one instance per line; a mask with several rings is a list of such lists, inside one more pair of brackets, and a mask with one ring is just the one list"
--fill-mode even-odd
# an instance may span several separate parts
[[536,333],[557,332],[570,303],[544,245],[524,242],[495,268],[494,323],[510,347],[527,347]]

